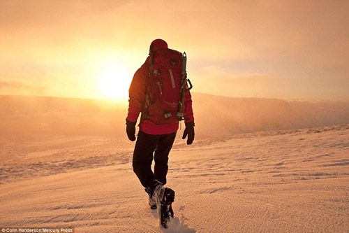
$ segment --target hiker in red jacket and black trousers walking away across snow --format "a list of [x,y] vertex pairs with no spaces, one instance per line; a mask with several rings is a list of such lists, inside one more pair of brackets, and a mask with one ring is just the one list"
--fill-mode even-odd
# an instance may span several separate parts
[[[194,140],[193,108],[185,66],[185,53],[170,50],[165,41],[156,39],[151,42],[149,57],[135,72],[129,89],[126,132],[131,141],[135,141],[135,125],[142,113],[133,152],[133,171],[149,195],[151,209],[156,209],[157,198],[163,201],[161,198],[168,195],[168,199],[174,199],[174,191],[163,185],[179,120],[183,119],[186,125],[182,138],[188,136],[188,145]],[[153,153],[154,172],[151,171]]]

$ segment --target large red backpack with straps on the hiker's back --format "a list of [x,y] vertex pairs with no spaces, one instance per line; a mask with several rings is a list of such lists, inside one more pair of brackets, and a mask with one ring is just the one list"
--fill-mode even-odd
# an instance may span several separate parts
[[185,52],[182,55],[169,48],[151,51],[142,119],[151,120],[158,125],[183,120],[187,80],[184,64]]

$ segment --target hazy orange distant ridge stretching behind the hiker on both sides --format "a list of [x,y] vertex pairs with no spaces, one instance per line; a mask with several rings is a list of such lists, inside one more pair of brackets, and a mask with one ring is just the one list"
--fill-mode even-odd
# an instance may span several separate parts
[[[229,136],[349,123],[349,103],[232,98],[192,93],[198,135]],[[102,99],[0,95],[3,134],[124,135],[123,106]]]

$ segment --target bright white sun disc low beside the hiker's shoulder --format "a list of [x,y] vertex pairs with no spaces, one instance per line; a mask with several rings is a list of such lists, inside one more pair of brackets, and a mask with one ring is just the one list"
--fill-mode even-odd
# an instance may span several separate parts
[[107,66],[98,76],[98,86],[107,99],[127,99],[131,76],[123,66]]

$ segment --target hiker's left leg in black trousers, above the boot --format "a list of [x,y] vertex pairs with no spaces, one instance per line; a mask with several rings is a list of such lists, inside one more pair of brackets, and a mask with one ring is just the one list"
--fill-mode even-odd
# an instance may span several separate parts
[[153,162],[153,153],[158,144],[160,135],[146,134],[138,132],[135,150],[133,152],[133,171],[140,179],[144,188],[148,188],[151,181],[154,180],[154,173],[151,171],[151,162]]

